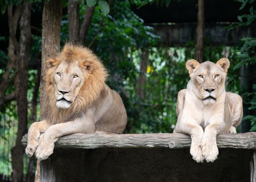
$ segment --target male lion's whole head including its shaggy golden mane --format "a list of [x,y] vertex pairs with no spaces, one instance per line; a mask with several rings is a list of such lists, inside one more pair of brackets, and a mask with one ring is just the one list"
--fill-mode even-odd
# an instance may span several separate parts
[[82,46],[66,44],[59,55],[46,59],[45,64],[46,89],[52,108],[73,111],[89,107],[107,77],[97,56]]

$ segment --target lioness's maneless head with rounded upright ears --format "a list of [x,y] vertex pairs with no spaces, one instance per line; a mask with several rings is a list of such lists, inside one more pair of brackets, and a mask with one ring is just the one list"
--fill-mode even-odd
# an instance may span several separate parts
[[205,105],[214,104],[218,95],[225,90],[229,60],[222,58],[216,64],[210,61],[200,64],[196,60],[188,60],[186,67],[197,97],[202,99]]

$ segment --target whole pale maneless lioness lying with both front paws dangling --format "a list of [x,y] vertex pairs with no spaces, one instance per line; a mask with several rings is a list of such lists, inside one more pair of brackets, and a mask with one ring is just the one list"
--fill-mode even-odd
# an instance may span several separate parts
[[242,118],[242,98],[226,93],[225,79],[229,60],[213,63],[188,60],[190,81],[177,99],[178,121],[173,133],[191,136],[190,153],[196,162],[217,159],[216,136],[220,132],[236,133]]

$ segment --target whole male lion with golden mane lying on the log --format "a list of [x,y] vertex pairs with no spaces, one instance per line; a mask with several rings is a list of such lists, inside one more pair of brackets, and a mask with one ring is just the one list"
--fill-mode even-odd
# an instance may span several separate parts
[[46,60],[46,68],[43,121],[28,130],[29,157],[35,153],[40,160],[48,158],[54,142],[64,135],[124,131],[122,99],[104,83],[107,72],[89,49],[66,44],[59,55]]

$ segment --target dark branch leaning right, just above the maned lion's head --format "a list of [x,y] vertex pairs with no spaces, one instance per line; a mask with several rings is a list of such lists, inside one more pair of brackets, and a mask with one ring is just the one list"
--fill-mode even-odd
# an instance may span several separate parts
[[79,37],[80,37],[80,44],[84,44],[85,43],[85,37],[88,33],[90,24],[91,24],[91,20],[92,20],[92,16],[94,16],[94,11],[95,11],[95,6],[92,7],[87,7],[86,8],[86,12],[84,15],[84,21],[80,27],[80,32],[79,32]]

